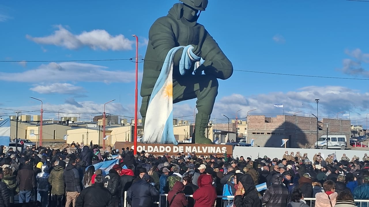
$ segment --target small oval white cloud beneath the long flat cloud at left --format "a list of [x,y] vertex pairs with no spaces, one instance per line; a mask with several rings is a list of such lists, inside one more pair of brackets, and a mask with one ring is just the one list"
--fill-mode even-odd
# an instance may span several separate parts
[[36,85],[30,88],[31,91],[39,94],[77,94],[84,92],[82,87],[75,86],[69,83],[53,83],[49,85]]

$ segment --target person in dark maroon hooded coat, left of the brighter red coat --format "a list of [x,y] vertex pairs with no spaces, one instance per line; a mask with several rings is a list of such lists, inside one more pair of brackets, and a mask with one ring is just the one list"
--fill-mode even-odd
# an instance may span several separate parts
[[188,200],[183,193],[184,185],[180,181],[176,181],[173,189],[169,191],[167,200],[170,207],[185,207],[188,204]]

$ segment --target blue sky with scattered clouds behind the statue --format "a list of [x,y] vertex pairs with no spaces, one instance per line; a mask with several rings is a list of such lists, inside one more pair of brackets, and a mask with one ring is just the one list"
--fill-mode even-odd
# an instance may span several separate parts
[[[127,59],[135,56],[132,34],[144,57],[152,23],[178,1],[4,1],[0,5],[0,104],[4,109],[134,115],[134,69],[129,60],[28,62],[30,60]],[[237,4],[236,4],[237,3]],[[210,1],[199,23],[218,42],[235,70],[369,78],[369,3],[346,0]],[[142,72],[143,63],[139,64]],[[366,122],[368,80],[308,78],[234,71],[220,81],[212,118],[284,112],[308,115],[320,99],[322,116]],[[139,82],[141,84],[141,82]],[[120,102],[119,102],[120,99]],[[141,98],[139,97],[139,102]],[[195,101],[175,105],[175,116],[192,120]],[[11,110],[0,110],[7,115]],[[31,114],[31,113],[24,113]],[[1,115],[0,115],[1,116]],[[56,117],[55,113],[45,114]],[[89,115],[84,115],[89,119]],[[355,121],[356,123],[356,121]]]

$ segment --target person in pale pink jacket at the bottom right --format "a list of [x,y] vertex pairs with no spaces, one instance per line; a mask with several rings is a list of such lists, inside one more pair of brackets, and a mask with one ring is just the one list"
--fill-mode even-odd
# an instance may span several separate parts
[[336,184],[332,180],[323,183],[324,193],[315,194],[315,207],[332,207],[336,204],[338,194],[335,192]]

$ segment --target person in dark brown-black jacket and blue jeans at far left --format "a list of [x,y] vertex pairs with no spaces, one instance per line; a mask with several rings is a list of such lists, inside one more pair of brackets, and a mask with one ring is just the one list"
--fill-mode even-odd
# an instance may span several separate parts
[[36,176],[32,169],[31,162],[25,161],[25,164],[18,172],[17,182],[19,183],[19,203],[30,202],[32,190],[37,187]]

